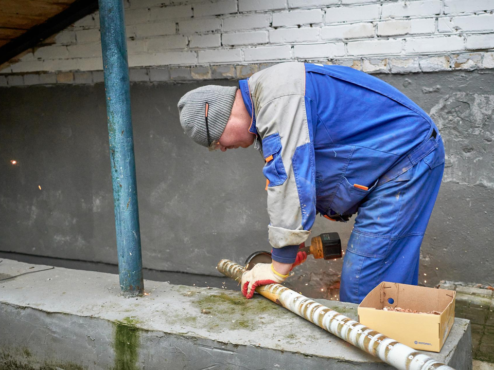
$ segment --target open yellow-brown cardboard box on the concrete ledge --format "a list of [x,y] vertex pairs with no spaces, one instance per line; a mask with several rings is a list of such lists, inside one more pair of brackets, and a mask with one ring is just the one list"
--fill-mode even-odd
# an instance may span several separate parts
[[[454,290],[382,282],[359,305],[359,322],[414,349],[439,352],[454,322]],[[383,311],[401,307],[440,315]]]

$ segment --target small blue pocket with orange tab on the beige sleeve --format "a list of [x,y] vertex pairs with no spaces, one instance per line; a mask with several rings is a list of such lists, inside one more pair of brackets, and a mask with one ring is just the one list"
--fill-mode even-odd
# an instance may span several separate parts
[[281,185],[287,179],[287,172],[281,160],[279,134],[270,135],[262,140],[262,152],[266,160],[262,173],[269,181],[268,187]]

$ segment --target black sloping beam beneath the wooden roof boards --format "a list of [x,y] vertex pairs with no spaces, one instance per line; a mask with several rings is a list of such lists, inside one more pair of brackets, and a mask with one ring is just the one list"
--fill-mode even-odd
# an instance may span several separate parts
[[52,16],[46,22],[31,27],[19,37],[0,47],[0,64],[9,61],[23,51],[36,46],[40,41],[60,32],[97,9],[98,0],[76,0],[74,3],[70,4],[67,9]]

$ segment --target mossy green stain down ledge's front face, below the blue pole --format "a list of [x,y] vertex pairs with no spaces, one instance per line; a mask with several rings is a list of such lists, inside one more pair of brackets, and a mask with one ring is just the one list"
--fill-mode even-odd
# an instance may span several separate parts
[[138,370],[139,329],[135,317],[126,317],[114,322],[113,349],[114,370]]

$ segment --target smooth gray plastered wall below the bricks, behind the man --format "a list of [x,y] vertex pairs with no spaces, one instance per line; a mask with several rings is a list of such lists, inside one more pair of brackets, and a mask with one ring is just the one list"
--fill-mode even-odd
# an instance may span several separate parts
[[[492,284],[494,74],[378,77],[432,114],[446,145],[420,281]],[[207,83],[131,87],[148,268],[215,274],[221,258],[241,262],[269,249],[259,155],[252,148],[208,153],[180,127],[178,99]],[[0,88],[0,122],[0,251],[116,263],[103,85]],[[317,217],[313,233],[338,231],[346,245],[351,227]],[[315,290],[340,271],[341,261],[310,260],[296,279]]]

